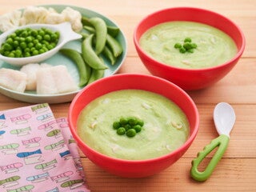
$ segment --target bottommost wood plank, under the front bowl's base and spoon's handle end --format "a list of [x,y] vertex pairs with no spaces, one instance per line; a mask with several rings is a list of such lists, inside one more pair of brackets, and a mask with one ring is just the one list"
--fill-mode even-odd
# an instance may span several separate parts
[[119,178],[82,158],[90,190],[97,191],[255,191],[256,170],[252,158],[222,158],[206,182],[190,178],[190,158],[182,158],[161,173],[148,178]]

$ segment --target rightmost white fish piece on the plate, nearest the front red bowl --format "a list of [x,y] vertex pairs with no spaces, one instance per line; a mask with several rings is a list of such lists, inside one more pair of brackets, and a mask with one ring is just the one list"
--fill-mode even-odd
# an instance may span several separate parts
[[41,68],[37,73],[37,94],[64,94],[78,90],[66,66]]

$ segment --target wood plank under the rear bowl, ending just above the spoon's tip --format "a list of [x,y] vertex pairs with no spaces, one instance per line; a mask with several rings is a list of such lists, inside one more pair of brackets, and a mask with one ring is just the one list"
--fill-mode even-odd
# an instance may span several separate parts
[[[219,82],[203,90],[188,91],[195,103],[230,102],[255,104],[256,99],[255,58],[241,58],[233,70]],[[127,57],[118,73],[150,74],[142,61]]]

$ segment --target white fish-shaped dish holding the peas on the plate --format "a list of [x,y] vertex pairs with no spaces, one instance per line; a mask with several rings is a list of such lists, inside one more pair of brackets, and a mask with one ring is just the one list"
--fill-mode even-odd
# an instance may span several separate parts
[[35,56],[31,57],[26,57],[26,58],[9,58],[6,56],[3,56],[0,54],[0,59],[4,62],[10,63],[13,66],[23,66],[28,63],[38,63],[46,60],[47,58],[50,58],[54,54],[58,52],[66,44],[66,42],[70,42],[79,38],[82,38],[81,34],[75,33],[74,30],[71,28],[70,22],[62,22],[57,25],[52,25],[52,24],[31,24],[31,25],[26,25],[26,26],[19,26],[15,27],[12,30],[8,30],[5,33],[0,35],[0,45],[2,45],[3,42],[6,41],[6,37],[9,34],[14,33],[15,30],[18,29],[25,29],[25,28],[30,28],[30,29],[41,29],[41,28],[46,28],[50,29],[52,31],[59,31],[60,37],[58,40],[57,46],[54,47],[52,50],[48,50],[43,54],[38,54]]

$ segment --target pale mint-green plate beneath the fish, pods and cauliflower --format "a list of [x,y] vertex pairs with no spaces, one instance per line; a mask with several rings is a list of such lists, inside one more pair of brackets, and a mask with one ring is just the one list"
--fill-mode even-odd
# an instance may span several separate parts
[[[44,7],[52,7],[54,10],[57,10],[58,12],[61,12],[64,10],[67,6],[70,5],[45,5]],[[82,16],[86,16],[88,18],[90,17],[100,17],[103,18],[107,25],[109,26],[117,26],[114,22],[112,22],[109,18],[106,18],[102,14],[98,14],[97,12],[93,10],[87,10],[82,7],[77,6],[70,6],[74,10],[78,10]],[[122,66],[122,63],[124,62],[126,58],[126,38],[124,34],[122,33],[122,30],[120,30],[118,36],[117,36],[118,42],[122,44],[123,52],[122,55],[119,56],[117,62],[112,66],[110,62],[104,58],[104,61],[106,65],[109,67],[107,70],[105,70],[104,77],[110,76],[112,74],[115,74],[118,69]],[[81,40],[75,40],[72,42],[66,43],[63,48],[71,48],[74,50],[81,51]],[[78,68],[75,65],[74,62],[72,62],[69,58],[66,58],[60,53],[54,54],[51,58],[46,59],[43,61],[44,63],[48,63],[52,66],[57,65],[64,65],[67,67],[68,71],[70,72],[70,75],[74,78],[75,82],[79,82],[79,74],[78,74]],[[19,70],[18,66],[11,66],[10,64],[3,62],[0,60],[0,68],[9,68],[14,70]],[[80,90],[82,90],[83,87],[80,87]],[[79,91],[79,90],[78,90]],[[25,91],[25,93],[19,93],[14,90],[8,90],[2,86],[0,86],[0,93],[6,95],[7,97],[17,99],[22,102],[34,102],[34,103],[42,103],[42,102],[48,102],[48,103],[61,103],[61,102],[70,102],[74,98],[75,94],[78,93],[78,91],[66,93],[66,94],[36,94],[35,91]]]

